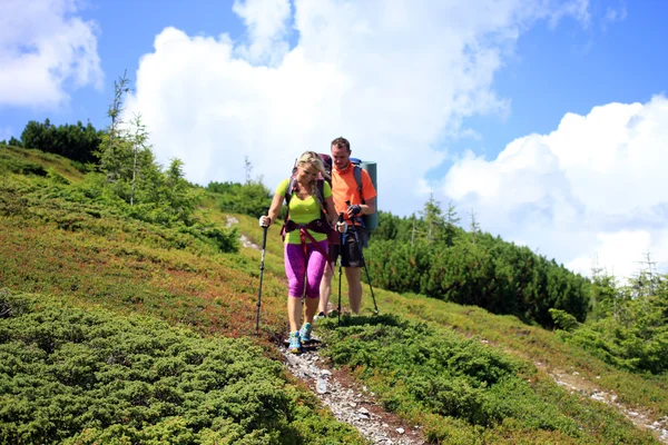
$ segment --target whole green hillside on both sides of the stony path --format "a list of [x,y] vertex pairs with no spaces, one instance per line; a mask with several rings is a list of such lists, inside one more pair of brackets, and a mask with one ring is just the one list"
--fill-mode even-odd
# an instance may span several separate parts
[[[151,179],[130,205],[121,181],[77,165],[0,147],[0,442],[364,443],[281,363],[278,226],[268,230],[256,336],[261,254],[237,240],[244,234],[261,244],[255,217],[223,211],[234,205],[225,190],[176,180],[174,170],[171,182],[169,171]],[[160,190],[154,201],[150,190]],[[184,197],[191,211],[179,205]],[[228,216],[238,224],[226,227]],[[375,241],[370,269],[382,281],[377,255],[392,237]],[[556,283],[589,286],[551,270]],[[494,315],[452,303],[452,294],[380,287],[380,316],[365,289],[362,316],[318,322],[321,354],[385,409],[422,425],[430,442],[657,443],[590,396],[613,394],[659,421],[668,414],[665,372],[607,359],[569,340],[577,329],[541,326],[554,322],[540,301],[540,312]],[[532,291],[522,295],[540,295]],[[570,306],[553,307],[568,314]],[[538,313],[543,318],[532,319]]]

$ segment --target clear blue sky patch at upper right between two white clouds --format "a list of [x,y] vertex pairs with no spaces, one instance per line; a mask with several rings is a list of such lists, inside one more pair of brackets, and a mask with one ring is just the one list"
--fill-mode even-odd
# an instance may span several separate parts
[[[609,8],[626,11],[625,18],[609,22]],[[494,89],[511,100],[509,113],[468,119],[482,138],[449,146],[493,157],[515,138],[552,131],[566,112],[587,115],[596,106],[646,102],[666,92],[668,51],[660,42],[668,41],[668,28],[659,18],[668,14],[668,2],[592,1],[590,9],[587,27],[566,19],[522,34],[494,78]]]

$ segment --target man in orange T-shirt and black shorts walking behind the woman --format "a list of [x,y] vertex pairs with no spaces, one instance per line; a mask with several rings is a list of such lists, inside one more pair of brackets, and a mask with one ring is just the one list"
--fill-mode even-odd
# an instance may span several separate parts
[[[347,222],[347,231],[343,246],[330,245],[328,260],[336,261],[341,254],[342,266],[348,284],[348,301],[351,310],[360,314],[362,306],[361,268],[364,267],[362,248],[366,247],[366,235],[362,227],[362,215],[371,215],[375,209],[376,190],[369,172],[350,161],[351,144],[345,138],[332,141],[332,197],[336,212],[343,212]],[[355,179],[354,169],[361,170],[361,187]],[[350,205],[348,205],[350,204]],[[356,236],[355,236],[356,231]],[[357,245],[357,240],[360,245]],[[320,287],[318,317],[327,314],[327,303],[332,293],[333,269],[325,267]]]

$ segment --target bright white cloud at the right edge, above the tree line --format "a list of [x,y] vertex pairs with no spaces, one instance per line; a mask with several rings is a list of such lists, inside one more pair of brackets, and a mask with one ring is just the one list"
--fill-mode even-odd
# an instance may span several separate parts
[[630,276],[646,251],[668,269],[668,99],[568,113],[550,135],[509,144],[494,160],[468,154],[443,192],[474,207],[487,230],[588,274]]

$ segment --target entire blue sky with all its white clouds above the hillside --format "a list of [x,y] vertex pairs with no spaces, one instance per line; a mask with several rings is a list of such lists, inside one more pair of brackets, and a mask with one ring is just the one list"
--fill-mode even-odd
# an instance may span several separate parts
[[667,2],[31,4],[0,3],[0,139],[105,127],[127,69],[126,116],[193,181],[243,180],[248,156],[274,187],[343,135],[379,162],[383,210],[432,192],[573,270],[628,275],[645,250],[668,269]]

